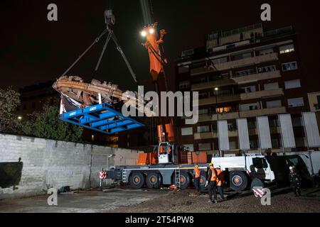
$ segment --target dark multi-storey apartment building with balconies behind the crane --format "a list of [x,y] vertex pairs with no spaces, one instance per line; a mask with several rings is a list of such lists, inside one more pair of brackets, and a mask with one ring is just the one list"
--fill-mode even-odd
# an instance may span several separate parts
[[[297,34],[291,26],[264,31],[255,24],[208,35],[206,46],[182,52],[176,61],[176,89],[199,92],[199,121],[177,119],[177,139],[193,151],[217,155],[217,121],[228,121],[230,151],[240,154],[236,118],[247,118],[249,152],[262,152],[256,117],[268,116],[272,150],[306,150],[302,112],[310,111],[299,59]],[[318,102],[319,103],[319,102]],[[292,115],[297,148],[282,149],[278,114]]]

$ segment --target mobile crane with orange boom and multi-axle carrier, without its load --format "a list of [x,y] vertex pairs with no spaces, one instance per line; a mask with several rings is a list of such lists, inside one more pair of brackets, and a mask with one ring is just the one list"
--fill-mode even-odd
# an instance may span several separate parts
[[[167,90],[166,75],[164,66],[167,61],[164,57],[164,35],[166,31],[161,29],[158,33],[158,23],[152,23],[149,0],[140,0],[144,16],[145,27],[141,35],[146,38],[144,47],[149,52],[150,74],[154,79],[156,92],[160,92],[164,87]],[[193,181],[194,164],[181,162],[181,155],[188,153],[188,148],[175,144],[174,121],[172,118],[159,118],[158,139],[159,145],[154,153],[149,155],[140,154],[139,164],[134,166],[118,166],[107,171],[107,178],[124,183],[129,183],[134,188],[144,187],[157,189],[161,185],[172,185],[180,189],[186,189]],[[230,188],[235,191],[242,191],[250,186],[253,178],[261,179],[262,182],[283,182],[283,173],[288,169],[284,166],[282,174],[274,172],[275,166],[282,160],[282,164],[290,160],[299,160],[301,170],[306,173],[306,165],[299,155],[284,157],[267,157],[264,155],[244,157],[213,157],[211,162],[220,166],[226,173],[225,179]],[[201,170],[200,187],[201,191],[206,190],[206,176],[208,164],[198,164]],[[284,174],[285,175],[285,174]],[[307,175],[307,173],[306,173]],[[280,177],[279,177],[280,176]],[[282,176],[282,178],[281,178]]]

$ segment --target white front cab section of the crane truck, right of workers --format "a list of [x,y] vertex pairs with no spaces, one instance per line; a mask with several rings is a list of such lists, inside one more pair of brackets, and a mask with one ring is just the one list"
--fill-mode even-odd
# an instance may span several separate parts
[[288,184],[289,166],[292,165],[302,175],[303,184],[311,184],[311,177],[300,155],[213,157],[211,162],[225,172],[225,181],[235,191],[247,189],[255,178],[265,184]]

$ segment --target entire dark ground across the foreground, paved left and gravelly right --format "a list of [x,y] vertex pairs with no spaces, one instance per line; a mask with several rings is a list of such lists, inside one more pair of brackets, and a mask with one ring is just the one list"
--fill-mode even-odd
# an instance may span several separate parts
[[262,206],[260,199],[250,192],[228,195],[227,201],[208,204],[206,194],[198,196],[192,189],[181,192],[116,189],[59,194],[58,206],[48,206],[48,196],[2,200],[0,212],[320,212],[320,189],[305,189],[301,197],[294,197],[288,189],[274,191],[271,206]]

